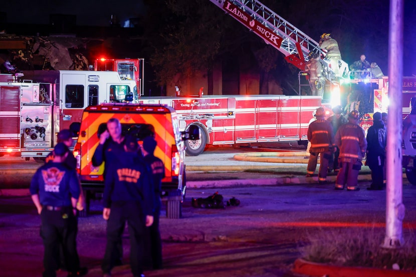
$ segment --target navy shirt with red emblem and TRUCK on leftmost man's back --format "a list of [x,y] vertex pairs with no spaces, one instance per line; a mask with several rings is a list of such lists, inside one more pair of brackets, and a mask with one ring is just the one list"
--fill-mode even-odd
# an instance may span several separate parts
[[36,170],[29,190],[31,195],[39,193],[42,205],[59,207],[72,206],[71,197],[78,199],[81,192],[77,172],[53,161]]

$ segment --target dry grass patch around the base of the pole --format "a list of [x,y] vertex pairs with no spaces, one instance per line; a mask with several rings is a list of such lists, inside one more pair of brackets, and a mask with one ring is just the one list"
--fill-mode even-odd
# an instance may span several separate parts
[[381,247],[384,228],[343,228],[309,234],[309,243],[301,247],[303,258],[312,262],[340,266],[362,266],[402,270],[416,269],[416,237],[403,234],[404,245],[396,249]]

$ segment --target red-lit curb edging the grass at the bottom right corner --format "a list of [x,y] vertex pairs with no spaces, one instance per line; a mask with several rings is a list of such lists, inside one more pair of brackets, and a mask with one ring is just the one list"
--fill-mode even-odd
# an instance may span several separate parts
[[416,271],[381,269],[372,267],[349,267],[316,263],[297,259],[292,271],[311,277],[371,276],[371,277],[416,277]]

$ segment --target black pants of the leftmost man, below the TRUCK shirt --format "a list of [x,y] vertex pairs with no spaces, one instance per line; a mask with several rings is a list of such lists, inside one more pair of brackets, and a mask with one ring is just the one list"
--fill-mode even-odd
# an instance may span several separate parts
[[43,276],[56,276],[60,265],[60,247],[68,271],[79,270],[79,256],[77,252],[78,218],[74,215],[72,207],[61,210],[48,210],[41,212],[41,237],[45,248]]

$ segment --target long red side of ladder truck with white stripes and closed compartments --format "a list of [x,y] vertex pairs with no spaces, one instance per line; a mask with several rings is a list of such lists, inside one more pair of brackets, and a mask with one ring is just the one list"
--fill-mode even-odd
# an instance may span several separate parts
[[313,111],[321,106],[321,97],[210,95],[141,97],[140,102],[173,107],[181,131],[191,124],[197,124],[201,128],[201,135],[206,136],[206,144],[219,145],[307,140],[309,121]]

